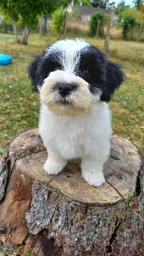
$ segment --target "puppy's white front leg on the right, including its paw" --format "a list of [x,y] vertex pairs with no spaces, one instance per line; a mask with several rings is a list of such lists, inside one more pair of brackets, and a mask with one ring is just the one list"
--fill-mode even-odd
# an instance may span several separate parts
[[105,182],[103,169],[103,161],[97,161],[88,156],[82,159],[81,172],[83,179],[91,186],[99,187]]

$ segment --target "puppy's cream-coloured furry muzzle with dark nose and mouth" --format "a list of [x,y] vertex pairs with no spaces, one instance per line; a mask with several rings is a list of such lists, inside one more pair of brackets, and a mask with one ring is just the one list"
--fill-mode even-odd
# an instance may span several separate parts
[[95,98],[83,78],[56,70],[44,80],[40,100],[56,115],[77,116],[88,111]]

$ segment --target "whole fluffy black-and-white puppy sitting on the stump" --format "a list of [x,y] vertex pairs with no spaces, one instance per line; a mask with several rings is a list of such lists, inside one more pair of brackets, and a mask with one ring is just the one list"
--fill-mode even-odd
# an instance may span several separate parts
[[56,175],[68,159],[81,158],[83,179],[99,187],[112,134],[106,102],[124,81],[120,65],[84,40],[61,40],[35,58],[29,76],[33,91],[40,92],[45,172]]

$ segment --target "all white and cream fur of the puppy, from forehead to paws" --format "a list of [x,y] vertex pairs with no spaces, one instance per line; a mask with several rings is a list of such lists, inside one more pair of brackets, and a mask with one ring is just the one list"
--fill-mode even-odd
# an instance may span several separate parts
[[[102,169],[109,157],[112,134],[111,113],[108,104],[100,101],[100,90],[93,96],[88,89],[88,83],[74,74],[80,60],[78,52],[80,49],[83,53],[89,51],[87,45],[83,40],[63,40],[56,42],[45,51],[45,58],[52,53],[53,58],[56,56],[57,61],[62,64],[63,70],[51,72],[40,91],[39,132],[48,152],[44,164],[45,172],[58,174],[63,170],[68,159],[81,158],[84,180],[91,186],[99,187],[105,182]],[[61,52],[59,56],[56,55],[57,50]],[[79,89],[67,97],[68,102],[72,102],[70,107],[68,104],[61,105],[61,96],[56,86],[54,87],[61,82],[79,85]],[[82,111],[84,99],[88,102],[84,103],[84,111]],[[52,108],[50,108],[51,102]],[[76,109],[77,112],[73,113]]]

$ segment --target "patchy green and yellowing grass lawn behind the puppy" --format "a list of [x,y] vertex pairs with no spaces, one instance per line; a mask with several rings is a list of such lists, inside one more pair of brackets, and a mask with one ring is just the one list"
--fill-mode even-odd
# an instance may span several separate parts
[[[13,58],[12,64],[0,66],[0,154],[2,154],[11,138],[38,125],[39,99],[38,95],[31,93],[27,67],[33,56],[40,54],[45,45],[60,38],[56,36],[40,38],[38,35],[31,35],[28,45],[16,44],[14,35],[1,34],[0,38],[0,52],[9,54]],[[86,41],[100,49],[104,45],[104,40],[101,39],[86,38]],[[110,41],[111,60],[124,66],[127,81],[115,93],[109,106],[113,113],[113,131],[131,140],[144,154],[144,51],[142,51],[144,44],[130,43],[131,47],[128,42]],[[133,54],[134,49],[136,54]]]

